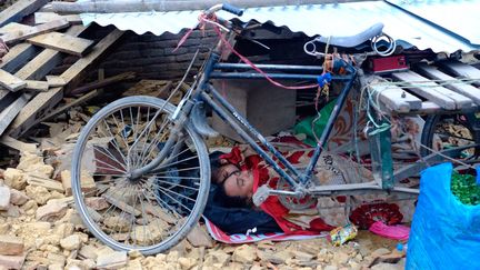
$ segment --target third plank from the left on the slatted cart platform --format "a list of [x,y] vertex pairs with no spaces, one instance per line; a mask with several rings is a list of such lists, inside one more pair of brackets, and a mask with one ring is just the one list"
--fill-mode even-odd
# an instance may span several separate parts
[[[450,77],[437,68],[429,66],[427,63],[420,63],[416,66],[418,69],[418,72],[424,74],[426,77],[433,79],[433,80],[447,80],[447,81],[453,81],[456,78]],[[464,82],[451,82],[443,86],[444,88],[448,88],[454,92],[458,92],[460,94],[463,94],[477,104],[480,104],[480,89],[472,87],[471,84],[464,83]]]

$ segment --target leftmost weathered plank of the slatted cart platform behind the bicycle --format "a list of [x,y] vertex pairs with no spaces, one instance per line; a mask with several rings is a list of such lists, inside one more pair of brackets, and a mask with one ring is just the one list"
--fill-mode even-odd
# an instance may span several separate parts
[[404,113],[421,108],[421,99],[397,86],[387,84],[386,82],[384,79],[380,80],[379,78],[371,81],[369,86],[372,90],[373,99],[380,100],[388,110]]

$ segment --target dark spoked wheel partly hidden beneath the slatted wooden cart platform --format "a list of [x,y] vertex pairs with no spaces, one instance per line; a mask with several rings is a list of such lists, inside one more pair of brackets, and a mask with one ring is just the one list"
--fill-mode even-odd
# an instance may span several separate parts
[[[479,119],[473,113],[470,114],[434,114],[428,116],[423,127],[421,143],[434,151],[441,151],[456,147],[468,147],[456,159],[477,160],[480,148],[474,144],[480,143],[480,132],[474,129],[479,124]],[[420,149],[420,154],[426,157],[432,151],[427,148]]]

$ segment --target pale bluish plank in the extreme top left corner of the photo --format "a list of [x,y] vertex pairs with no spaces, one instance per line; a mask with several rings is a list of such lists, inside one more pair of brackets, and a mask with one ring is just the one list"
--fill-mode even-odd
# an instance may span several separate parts
[[23,17],[33,13],[50,0],[19,0],[0,13],[0,27],[9,22],[20,21]]

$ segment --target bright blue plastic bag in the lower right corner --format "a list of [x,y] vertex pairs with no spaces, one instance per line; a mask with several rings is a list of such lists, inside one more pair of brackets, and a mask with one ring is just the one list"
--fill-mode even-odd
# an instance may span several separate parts
[[406,269],[480,269],[480,206],[451,192],[452,164],[422,171]]

